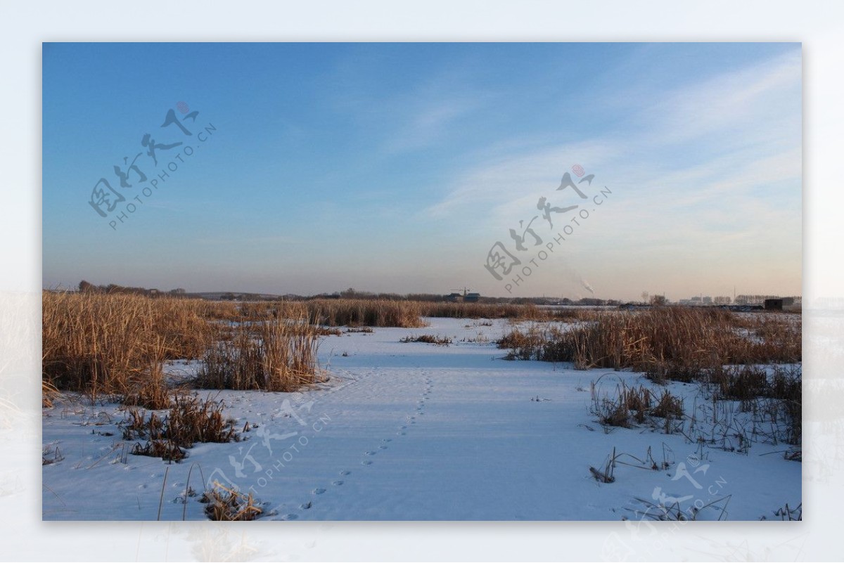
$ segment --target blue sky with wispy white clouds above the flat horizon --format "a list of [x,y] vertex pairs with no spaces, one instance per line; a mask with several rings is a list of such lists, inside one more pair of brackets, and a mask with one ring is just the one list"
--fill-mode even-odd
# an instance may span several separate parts
[[44,287],[801,294],[798,43],[42,55]]

